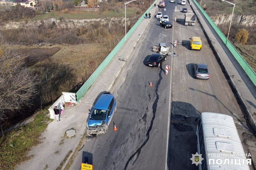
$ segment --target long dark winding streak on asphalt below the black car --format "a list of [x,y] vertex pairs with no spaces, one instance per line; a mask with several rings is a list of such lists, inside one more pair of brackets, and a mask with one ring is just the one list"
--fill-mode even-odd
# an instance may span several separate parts
[[133,153],[132,156],[130,156],[130,158],[128,159],[128,161],[127,161],[126,164],[125,164],[125,167],[124,167],[125,170],[127,169],[127,166],[128,166],[128,164],[129,164],[129,162],[133,159],[133,157],[134,157],[136,154],[138,154],[137,158],[134,160],[133,163],[136,162],[136,160],[139,158],[141,149],[145,146],[145,144],[146,144],[146,143],[148,142],[148,140],[149,140],[149,133],[150,133],[150,131],[152,130],[152,127],[153,127],[153,123],[154,123],[154,119],[155,119],[155,113],[156,113],[156,108],[157,108],[157,103],[158,103],[158,99],[159,99],[159,95],[158,95],[158,86],[160,85],[161,80],[162,80],[161,72],[162,72],[162,70],[160,69],[160,73],[158,73],[159,80],[158,80],[158,82],[157,82],[156,90],[155,90],[156,99],[155,99],[155,101],[154,101],[154,103],[153,103],[153,106],[152,106],[153,116],[152,116],[152,119],[151,119],[151,122],[150,122],[150,126],[149,126],[149,128],[148,128],[147,134],[146,134],[147,138],[146,138],[146,140],[143,142],[143,144],[139,147],[139,149],[137,149],[136,152]]

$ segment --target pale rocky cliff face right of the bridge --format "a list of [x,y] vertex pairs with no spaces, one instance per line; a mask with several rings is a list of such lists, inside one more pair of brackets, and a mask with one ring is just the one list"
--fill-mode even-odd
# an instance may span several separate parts
[[[216,25],[230,23],[231,14],[220,14],[211,16]],[[256,24],[256,15],[237,15],[233,14],[232,24],[242,24],[246,26],[254,26]]]

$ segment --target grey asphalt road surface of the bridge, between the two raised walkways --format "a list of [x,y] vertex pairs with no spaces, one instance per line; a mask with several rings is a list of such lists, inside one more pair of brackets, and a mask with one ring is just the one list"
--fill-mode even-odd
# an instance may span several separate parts
[[[177,11],[174,13],[175,5]],[[180,2],[166,2],[169,20],[184,16]],[[191,11],[189,5],[185,6]],[[163,8],[162,8],[163,9]],[[198,169],[190,158],[196,153],[196,118],[202,112],[233,116],[245,153],[255,158],[255,132],[234,96],[199,24],[174,23],[174,29],[159,27],[152,15],[133,57],[112,89],[117,96],[117,112],[109,130],[89,141],[76,155],[70,169],[80,169],[84,156],[89,156],[94,170],[101,169]],[[191,51],[189,38],[200,36],[201,51]],[[173,41],[177,47],[173,48]],[[168,57],[161,68],[145,65],[159,42],[170,46],[177,57]],[[194,79],[193,63],[206,63],[209,80]],[[165,75],[165,66],[171,66]],[[152,82],[153,86],[149,86]],[[118,130],[113,131],[113,123]],[[168,143],[168,147],[167,147]],[[167,161],[167,162],[166,162]],[[255,169],[251,166],[251,169]]]

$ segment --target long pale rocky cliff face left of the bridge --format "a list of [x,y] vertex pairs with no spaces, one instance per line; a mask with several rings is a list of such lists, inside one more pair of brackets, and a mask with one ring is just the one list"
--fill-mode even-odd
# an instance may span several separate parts
[[[128,20],[128,19],[127,19]],[[129,25],[130,22],[126,20],[126,24]],[[134,20],[134,18],[130,18]],[[38,27],[45,24],[46,27],[52,25],[53,23],[60,29],[64,28],[82,28],[89,26],[92,23],[97,23],[100,25],[108,25],[109,27],[113,25],[114,22],[119,22],[120,24],[125,24],[124,17],[119,18],[99,18],[99,19],[47,19],[47,20],[36,20],[36,21],[23,21],[23,22],[7,22],[0,24],[0,29],[17,29],[17,28],[31,28]]]

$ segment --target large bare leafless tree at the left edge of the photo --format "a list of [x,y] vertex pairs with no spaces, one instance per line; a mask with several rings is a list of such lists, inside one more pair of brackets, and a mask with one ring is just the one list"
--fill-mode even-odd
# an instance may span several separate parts
[[[1,36],[1,35],[0,35]],[[24,57],[16,56],[0,38],[0,125],[5,118],[17,116],[24,106],[31,106],[38,93],[36,76],[24,65]],[[16,57],[14,57],[16,56]]]

